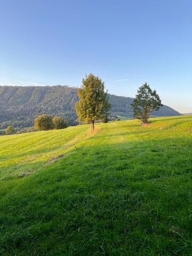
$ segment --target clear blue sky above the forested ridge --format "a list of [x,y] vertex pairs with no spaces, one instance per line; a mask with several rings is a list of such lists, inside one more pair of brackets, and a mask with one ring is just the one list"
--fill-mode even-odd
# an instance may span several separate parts
[[0,85],[80,86],[134,97],[145,82],[192,112],[192,1],[0,0]]

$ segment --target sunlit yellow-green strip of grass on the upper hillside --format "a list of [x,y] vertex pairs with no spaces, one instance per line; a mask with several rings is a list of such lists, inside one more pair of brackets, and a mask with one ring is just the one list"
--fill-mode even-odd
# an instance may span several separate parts
[[90,133],[90,125],[79,125],[64,130],[0,137],[0,179],[4,179],[7,175],[12,176],[14,173],[17,175],[31,169],[37,170],[51,157],[69,154],[79,146],[110,146],[116,143],[120,145],[120,143],[141,140],[153,141],[191,136],[191,120],[192,116],[162,117],[152,118],[147,127],[143,127],[138,120],[97,124],[94,134]]

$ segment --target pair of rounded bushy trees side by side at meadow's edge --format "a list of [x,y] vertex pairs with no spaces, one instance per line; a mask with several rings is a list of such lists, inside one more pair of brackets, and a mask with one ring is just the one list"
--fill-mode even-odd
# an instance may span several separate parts
[[66,118],[54,117],[50,115],[41,115],[35,119],[35,129],[36,130],[52,130],[52,129],[65,129],[68,127],[68,122]]

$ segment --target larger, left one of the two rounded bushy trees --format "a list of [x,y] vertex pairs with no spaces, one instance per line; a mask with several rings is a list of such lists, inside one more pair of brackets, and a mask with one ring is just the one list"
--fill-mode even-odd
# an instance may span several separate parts
[[36,130],[52,130],[54,128],[54,124],[52,121],[52,117],[50,115],[41,115],[35,119],[35,129]]

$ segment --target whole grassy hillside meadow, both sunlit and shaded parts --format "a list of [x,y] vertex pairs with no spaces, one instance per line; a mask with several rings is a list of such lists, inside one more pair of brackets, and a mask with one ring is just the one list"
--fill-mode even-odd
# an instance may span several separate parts
[[0,255],[192,255],[192,116],[151,121],[0,137]]

